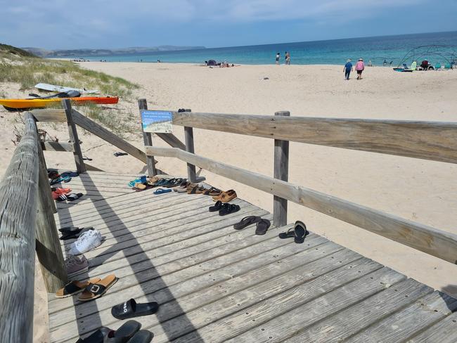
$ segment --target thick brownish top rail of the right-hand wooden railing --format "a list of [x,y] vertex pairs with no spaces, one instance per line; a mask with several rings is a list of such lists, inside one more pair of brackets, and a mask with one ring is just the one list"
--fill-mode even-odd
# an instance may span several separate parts
[[173,112],[173,124],[457,163],[457,123]]

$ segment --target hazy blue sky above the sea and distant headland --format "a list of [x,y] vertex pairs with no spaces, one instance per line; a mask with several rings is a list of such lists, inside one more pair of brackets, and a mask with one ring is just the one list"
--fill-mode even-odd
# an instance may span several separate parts
[[457,30],[457,0],[0,0],[0,42],[243,46]]

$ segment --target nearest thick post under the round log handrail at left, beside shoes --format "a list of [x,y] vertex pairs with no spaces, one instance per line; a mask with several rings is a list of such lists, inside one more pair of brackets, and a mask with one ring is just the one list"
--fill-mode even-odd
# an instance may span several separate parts
[[41,143],[37,141],[37,144],[39,175],[35,250],[41,264],[41,274],[46,290],[53,293],[67,283],[67,270],[53,216],[54,203],[51,198],[51,187],[49,186],[44,155],[41,150]]

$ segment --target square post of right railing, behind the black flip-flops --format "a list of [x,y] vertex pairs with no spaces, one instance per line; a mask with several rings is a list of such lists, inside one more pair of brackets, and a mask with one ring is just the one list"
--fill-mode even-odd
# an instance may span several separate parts
[[[289,117],[290,112],[281,111],[274,115]],[[274,140],[274,172],[273,177],[282,181],[288,181],[289,175],[289,141]],[[277,228],[287,224],[288,200],[273,196],[273,224]]]

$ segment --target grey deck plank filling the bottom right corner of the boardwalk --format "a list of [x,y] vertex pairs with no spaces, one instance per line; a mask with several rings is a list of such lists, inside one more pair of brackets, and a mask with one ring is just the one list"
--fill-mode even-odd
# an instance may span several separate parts
[[456,343],[457,342],[457,312],[442,319],[408,343]]

